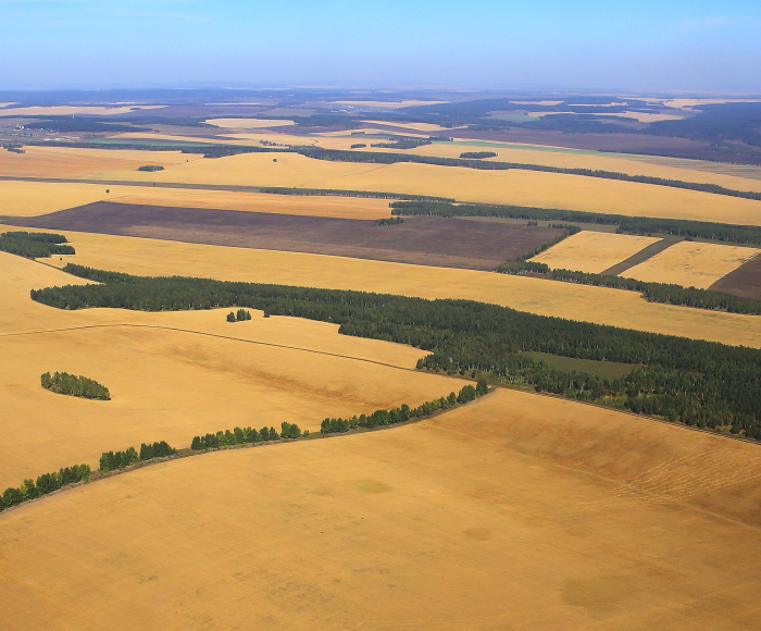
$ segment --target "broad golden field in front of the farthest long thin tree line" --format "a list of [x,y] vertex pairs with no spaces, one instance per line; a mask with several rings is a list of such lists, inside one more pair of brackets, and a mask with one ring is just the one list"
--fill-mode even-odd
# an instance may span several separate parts
[[157,173],[132,172],[124,175],[138,182],[379,190],[434,195],[463,201],[761,225],[761,201],[536,171],[330,162],[297,153],[282,153],[277,158],[267,153],[247,153],[196,160]]

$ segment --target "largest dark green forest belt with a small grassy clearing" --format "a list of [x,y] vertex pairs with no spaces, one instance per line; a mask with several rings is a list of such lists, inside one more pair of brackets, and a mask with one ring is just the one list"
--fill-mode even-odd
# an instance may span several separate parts
[[[68,264],[65,271],[99,285],[33,290],[59,309],[112,307],[145,311],[242,306],[265,314],[339,324],[339,332],[408,344],[431,352],[420,369],[489,372],[509,384],[679,420],[732,426],[761,438],[761,350],[629,331],[515,311],[472,300],[407,296],[208,279],[141,277]],[[523,351],[635,364],[607,380],[562,372]]]

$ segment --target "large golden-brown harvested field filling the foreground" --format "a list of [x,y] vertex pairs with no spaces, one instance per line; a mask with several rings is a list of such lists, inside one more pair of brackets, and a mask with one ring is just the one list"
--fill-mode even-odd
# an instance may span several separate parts
[[0,603],[12,631],[745,631],[760,475],[756,445],[498,392],[4,514]]

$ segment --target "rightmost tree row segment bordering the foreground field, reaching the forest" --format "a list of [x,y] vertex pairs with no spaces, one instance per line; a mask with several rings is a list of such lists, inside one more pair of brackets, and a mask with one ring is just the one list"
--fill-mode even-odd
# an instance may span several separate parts
[[320,424],[323,434],[342,434],[355,428],[373,429],[378,425],[395,425],[412,419],[429,417],[436,410],[446,410],[456,404],[466,404],[489,392],[486,380],[479,376],[476,386],[470,384],[462,387],[460,394],[449,393],[449,396],[425,401],[416,408],[407,404],[391,410],[375,410],[372,415],[353,416],[350,419],[324,419]]

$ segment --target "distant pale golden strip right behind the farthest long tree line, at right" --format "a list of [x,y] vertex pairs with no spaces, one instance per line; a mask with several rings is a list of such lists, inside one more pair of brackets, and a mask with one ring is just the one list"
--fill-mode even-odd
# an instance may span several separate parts
[[[613,171],[615,173],[626,173],[628,175],[647,175],[649,177],[663,177],[666,180],[682,180],[684,182],[696,182],[700,184],[718,184],[726,188],[736,190],[761,190],[761,169],[758,166],[743,168],[722,164],[728,169],[723,169],[726,173],[713,173],[701,166],[703,162],[699,160],[676,160],[660,159],[652,163],[641,160],[640,156],[614,153],[606,154],[595,151],[574,151],[569,149],[548,150],[547,147],[507,145],[504,143],[478,143],[473,144],[466,140],[456,143],[434,143],[414,149],[409,149],[410,153],[421,156],[437,156],[440,158],[459,158],[463,151],[494,151],[496,158],[486,158],[492,162],[519,162],[523,164],[542,164],[546,166],[559,166],[561,169],[591,169],[600,171]],[[678,166],[677,166],[678,164]],[[710,164],[710,163],[709,163]],[[715,163],[714,163],[715,164]],[[715,166],[714,166],[715,169]],[[748,177],[748,173],[756,175],[756,178]]]

